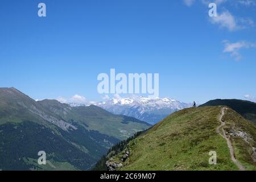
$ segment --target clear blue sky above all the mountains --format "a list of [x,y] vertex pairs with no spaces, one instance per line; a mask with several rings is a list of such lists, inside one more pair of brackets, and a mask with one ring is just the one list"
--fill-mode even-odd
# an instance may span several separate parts
[[255,101],[256,2],[216,3],[210,18],[207,0],[2,0],[0,86],[100,101],[97,76],[115,68],[159,73],[160,97]]

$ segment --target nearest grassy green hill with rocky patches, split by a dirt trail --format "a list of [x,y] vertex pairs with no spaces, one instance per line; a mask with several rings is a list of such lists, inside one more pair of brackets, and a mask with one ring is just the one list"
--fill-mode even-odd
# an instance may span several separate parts
[[[238,170],[227,141],[216,131],[221,108],[177,111],[138,137],[113,147],[94,169],[105,170],[108,160],[110,166],[119,165],[118,170]],[[225,111],[223,119],[237,160],[246,169],[255,170],[255,126],[232,109]],[[129,156],[122,161],[127,151]],[[210,151],[217,152],[216,165],[209,164]]]

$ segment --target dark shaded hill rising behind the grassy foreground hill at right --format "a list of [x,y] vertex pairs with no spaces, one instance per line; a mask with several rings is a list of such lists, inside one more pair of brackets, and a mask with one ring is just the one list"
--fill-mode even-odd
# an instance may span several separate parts
[[256,103],[244,100],[212,100],[208,101],[199,107],[204,106],[228,106],[235,110],[237,113],[241,114],[244,118],[248,119],[249,121],[253,122],[256,125]]

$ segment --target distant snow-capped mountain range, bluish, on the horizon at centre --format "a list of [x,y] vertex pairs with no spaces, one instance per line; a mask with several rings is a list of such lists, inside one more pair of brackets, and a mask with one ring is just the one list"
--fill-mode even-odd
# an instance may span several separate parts
[[[69,104],[73,107],[81,104]],[[172,98],[112,98],[104,102],[95,102],[94,105],[102,107],[113,114],[127,115],[154,125],[177,110],[191,107],[191,104],[176,101]]]

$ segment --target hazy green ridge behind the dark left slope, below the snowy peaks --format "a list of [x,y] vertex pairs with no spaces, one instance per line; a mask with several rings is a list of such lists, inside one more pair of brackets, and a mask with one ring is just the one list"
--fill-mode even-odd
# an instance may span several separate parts
[[131,137],[134,133],[146,130],[151,126],[133,117],[109,113],[94,105],[71,107],[56,100],[38,101],[38,104],[59,115],[65,121],[78,122],[87,130],[99,131],[119,140]]

